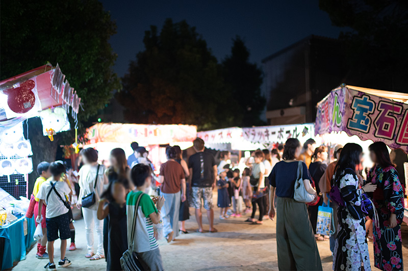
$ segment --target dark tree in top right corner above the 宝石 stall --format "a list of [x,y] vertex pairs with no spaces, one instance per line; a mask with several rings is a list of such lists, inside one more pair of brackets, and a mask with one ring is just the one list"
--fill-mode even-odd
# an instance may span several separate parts
[[345,82],[362,87],[407,92],[408,2],[320,0],[340,34],[347,56]]

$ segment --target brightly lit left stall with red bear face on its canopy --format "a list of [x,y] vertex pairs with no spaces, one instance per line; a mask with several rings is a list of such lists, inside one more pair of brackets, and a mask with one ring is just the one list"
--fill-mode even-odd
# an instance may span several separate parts
[[33,171],[29,156],[33,153],[23,134],[23,121],[41,116],[44,136],[52,139],[70,128],[70,110],[77,121],[80,102],[58,64],[0,82],[0,187],[14,197],[28,196],[28,174]]

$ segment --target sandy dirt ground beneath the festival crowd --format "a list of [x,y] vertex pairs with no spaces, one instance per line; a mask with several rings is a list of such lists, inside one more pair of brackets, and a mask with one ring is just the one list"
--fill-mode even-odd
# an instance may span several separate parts
[[[216,196],[216,194],[214,195]],[[216,199],[216,197],[214,197]],[[216,202],[216,201],[215,201]],[[190,209],[190,214],[194,214]],[[244,222],[250,214],[242,218],[219,219],[219,209],[215,208],[215,227],[217,233],[196,233],[195,217],[186,223],[188,234],[180,235],[168,244],[159,241],[160,251],[166,270],[277,270],[275,222],[266,220],[263,225],[250,225]],[[208,230],[206,213],[203,213],[204,229]],[[90,261],[84,257],[86,239],[84,221],[75,221],[76,251],[67,251],[66,257],[72,264],[68,270],[105,270],[105,260]],[[403,257],[408,260],[408,227],[402,230]],[[60,242],[55,242],[55,256],[59,257]],[[319,241],[318,248],[323,270],[331,270],[332,257],[329,241]],[[372,242],[369,242],[371,267],[373,264]],[[35,248],[27,259],[19,262],[13,270],[41,270],[47,260],[35,258]]]

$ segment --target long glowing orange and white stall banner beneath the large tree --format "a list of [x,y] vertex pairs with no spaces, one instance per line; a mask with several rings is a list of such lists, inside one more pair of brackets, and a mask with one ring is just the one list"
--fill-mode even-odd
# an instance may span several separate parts
[[87,144],[98,142],[138,142],[142,146],[191,142],[197,136],[194,125],[153,125],[97,123],[87,129]]

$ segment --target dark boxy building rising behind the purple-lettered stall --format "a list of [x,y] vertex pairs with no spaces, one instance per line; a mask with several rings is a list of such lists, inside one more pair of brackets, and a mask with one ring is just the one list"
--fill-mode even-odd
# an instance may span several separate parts
[[309,36],[262,60],[268,125],[314,122],[316,104],[344,83],[342,44]]

